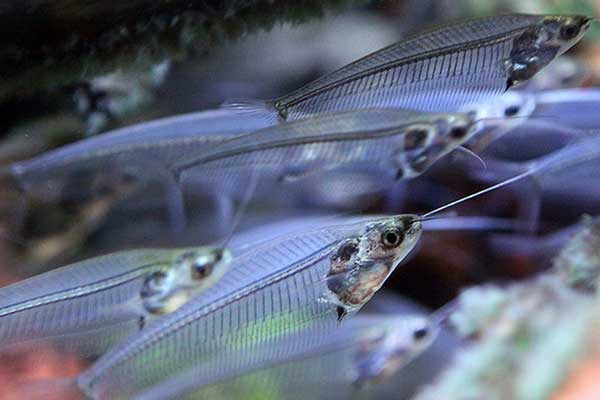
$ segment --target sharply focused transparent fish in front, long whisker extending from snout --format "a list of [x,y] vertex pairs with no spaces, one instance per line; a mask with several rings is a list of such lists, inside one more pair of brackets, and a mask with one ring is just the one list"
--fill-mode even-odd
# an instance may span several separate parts
[[[363,218],[234,249],[232,268],[217,284],[105,354],[79,386],[95,398],[128,398],[231,349],[268,349],[309,325],[334,329],[414,247],[421,232],[415,218]],[[400,241],[383,250],[384,238]]]

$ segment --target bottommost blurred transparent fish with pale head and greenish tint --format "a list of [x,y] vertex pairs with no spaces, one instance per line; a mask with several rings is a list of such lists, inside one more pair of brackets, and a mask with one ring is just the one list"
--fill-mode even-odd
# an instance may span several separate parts
[[[437,329],[416,315],[368,315],[333,331],[309,327],[269,351],[236,349],[219,363],[145,390],[136,399],[351,398],[368,393],[425,350]],[[268,353],[268,357],[264,355]],[[297,397],[294,397],[297,396]]]

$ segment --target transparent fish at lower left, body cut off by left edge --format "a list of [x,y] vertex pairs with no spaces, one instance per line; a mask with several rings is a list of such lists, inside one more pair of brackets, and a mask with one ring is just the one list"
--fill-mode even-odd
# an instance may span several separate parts
[[217,247],[130,250],[0,288],[0,348],[47,340],[102,354],[214,285],[231,257]]

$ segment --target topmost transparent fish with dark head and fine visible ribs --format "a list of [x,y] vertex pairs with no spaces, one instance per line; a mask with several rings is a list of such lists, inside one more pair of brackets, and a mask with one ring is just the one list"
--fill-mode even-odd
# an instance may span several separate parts
[[452,111],[527,81],[581,39],[585,16],[510,14],[417,34],[275,100],[232,103],[273,119],[367,107]]

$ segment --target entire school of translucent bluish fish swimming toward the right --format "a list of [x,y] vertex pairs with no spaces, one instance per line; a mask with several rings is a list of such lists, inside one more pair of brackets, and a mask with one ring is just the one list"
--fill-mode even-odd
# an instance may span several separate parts
[[[276,99],[129,126],[4,167],[19,218],[31,204],[119,192],[109,207],[158,204],[174,234],[202,225],[197,205],[210,204],[227,233],[108,252],[0,288],[0,352],[51,343],[93,360],[78,376],[31,384],[29,398],[60,390],[92,399],[377,398],[443,325],[443,312],[359,313],[424,231],[521,226],[435,218],[518,181],[537,185],[530,201],[585,203],[574,182],[600,187],[600,88],[527,88],[593,20],[453,22]],[[347,199],[410,186],[455,153],[482,159],[487,168],[469,174],[488,186],[422,215],[280,220],[275,211],[352,209]],[[253,204],[273,217],[241,229]],[[502,251],[522,240],[493,243]],[[543,240],[521,248],[554,246]]]

